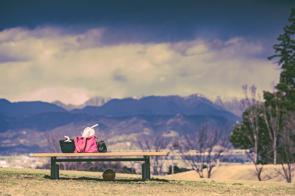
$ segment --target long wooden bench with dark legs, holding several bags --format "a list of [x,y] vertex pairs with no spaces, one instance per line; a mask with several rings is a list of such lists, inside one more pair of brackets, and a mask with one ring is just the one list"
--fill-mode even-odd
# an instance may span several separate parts
[[[167,152],[106,152],[106,153],[37,153],[34,157],[51,157],[51,179],[59,178],[57,162],[103,162],[103,161],[144,161],[142,163],[142,180],[150,179],[150,156],[167,155]],[[123,157],[143,156],[143,158],[76,158],[57,159],[57,157]]]

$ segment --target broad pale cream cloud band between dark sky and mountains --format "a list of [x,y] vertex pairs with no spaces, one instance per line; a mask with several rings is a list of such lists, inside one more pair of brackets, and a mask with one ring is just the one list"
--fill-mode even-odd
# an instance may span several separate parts
[[[0,97],[80,104],[101,95],[243,96],[279,77],[265,43],[233,37],[164,43],[102,44],[105,28],[14,28],[0,32]],[[267,45],[267,44],[266,44]],[[68,95],[68,96],[67,96]]]

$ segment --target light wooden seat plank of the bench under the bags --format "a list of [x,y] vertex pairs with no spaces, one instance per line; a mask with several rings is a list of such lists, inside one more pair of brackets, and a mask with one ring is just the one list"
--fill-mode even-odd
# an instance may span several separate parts
[[35,153],[34,157],[157,156],[167,152]]

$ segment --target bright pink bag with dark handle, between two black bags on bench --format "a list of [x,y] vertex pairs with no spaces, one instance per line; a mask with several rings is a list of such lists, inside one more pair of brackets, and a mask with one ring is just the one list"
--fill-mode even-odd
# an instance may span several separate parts
[[95,138],[97,139],[97,137],[95,137],[94,135],[90,137],[76,137],[74,139],[76,146],[76,150],[74,153],[98,152]]

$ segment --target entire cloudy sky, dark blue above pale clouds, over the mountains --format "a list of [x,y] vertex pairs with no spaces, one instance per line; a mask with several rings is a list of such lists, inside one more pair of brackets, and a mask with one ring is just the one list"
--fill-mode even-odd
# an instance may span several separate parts
[[0,98],[82,104],[271,91],[294,1],[0,1]]

